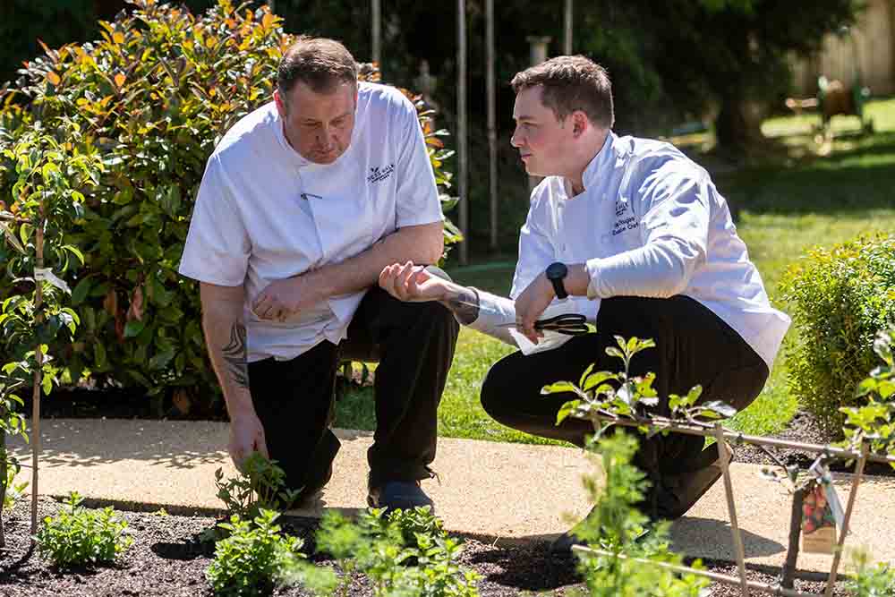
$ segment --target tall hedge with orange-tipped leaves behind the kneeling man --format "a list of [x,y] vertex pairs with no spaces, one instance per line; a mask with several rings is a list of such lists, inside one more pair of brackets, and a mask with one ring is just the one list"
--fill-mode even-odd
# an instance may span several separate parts
[[[90,375],[149,394],[216,394],[199,285],[176,268],[206,160],[230,126],[269,101],[292,38],[267,6],[236,12],[219,0],[194,16],[154,0],[132,4],[132,13],[100,22],[102,39],[48,49],[30,61],[3,98],[0,146],[39,123],[60,141],[98,154],[104,166],[98,189],[85,191],[83,217],[67,233],[84,261],[72,264],[68,277],[81,316],[76,341],[51,350],[65,366],[63,381]],[[369,67],[362,72],[364,79],[378,76]],[[452,153],[438,139],[445,132],[431,131],[422,101],[405,93],[416,102],[444,193],[450,173],[442,160]],[[14,166],[0,162],[0,210],[13,214],[14,180]],[[452,204],[447,194],[442,201]],[[19,233],[29,240],[29,231]],[[458,240],[446,222],[446,244]],[[30,292],[21,282],[29,263],[14,260],[2,244],[0,263],[7,270],[0,296]],[[16,358],[16,346],[3,349],[12,354],[0,357]]]

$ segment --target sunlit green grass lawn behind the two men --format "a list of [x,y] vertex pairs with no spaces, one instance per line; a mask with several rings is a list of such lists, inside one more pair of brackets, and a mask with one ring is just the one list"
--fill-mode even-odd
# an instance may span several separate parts
[[[862,233],[895,231],[895,99],[874,101],[865,110],[875,133],[850,134],[857,118],[833,119],[834,139],[818,146],[814,116],[773,118],[763,124],[766,136],[787,148],[768,152],[767,164],[713,176],[731,205],[740,210],[737,230],[761,271],[771,302],[778,299],[780,279],[808,247],[829,246]],[[699,156],[695,157],[700,161]],[[706,165],[713,170],[711,162]],[[478,266],[450,271],[463,284],[507,294],[513,269]],[[785,310],[785,309],[784,309]],[[762,395],[732,425],[747,433],[767,433],[785,426],[797,409],[786,384],[784,354],[771,372]],[[439,433],[446,437],[552,443],[493,422],[479,405],[479,388],[492,362],[511,352],[507,345],[464,329],[439,410]],[[373,428],[370,390],[351,393],[338,406],[337,425]]]

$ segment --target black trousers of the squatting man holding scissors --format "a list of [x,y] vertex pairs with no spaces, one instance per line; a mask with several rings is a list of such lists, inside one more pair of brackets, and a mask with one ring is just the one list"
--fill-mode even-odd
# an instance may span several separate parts
[[[564,439],[584,446],[593,433],[590,422],[567,418],[556,425],[559,408],[574,400],[571,392],[541,395],[556,381],[577,381],[588,365],[594,371],[622,371],[624,363],[606,354],[613,336],[652,338],[648,348],[631,360],[631,374],[656,374],[660,404],[655,414],[668,415],[669,394],[685,395],[703,387],[701,402],[721,400],[742,410],[752,404],[768,379],[768,367],[746,341],[712,311],[695,300],[618,296],[601,301],[597,332],[573,337],[543,353],[509,354],[495,363],[482,385],[482,406],[507,427],[544,438]],[[635,456],[653,485],[665,473],[684,473],[702,451],[701,437],[670,433],[641,441]]]

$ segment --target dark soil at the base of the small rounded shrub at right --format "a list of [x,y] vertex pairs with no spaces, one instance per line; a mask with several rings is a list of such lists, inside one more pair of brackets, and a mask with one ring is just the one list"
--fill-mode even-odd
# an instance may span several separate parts
[[[820,444],[822,446],[839,441],[841,438],[831,436],[825,433],[818,424],[814,415],[805,411],[797,412],[796,416],[788,423],[786,429],[771,435],[776,439],[788,439],[789,441],[799,441],[808,444]],[[767,448],[770,450],[783,465],[797,465],[803,470],[807,470],[814,460],[819,456],[814,452],[805,452],[793,448]],[[776,463],[768,456],[762,448],[751,444],[741,444],[734,447],[734,460],[737,462],[746,462],[754,465],[775,465]],[[830,470],[837,472],[851,473],[854,471],[855,463],[848,465],[846,461],[836,459],[831,461]],[[895,469],[890,465],[882,463],[868,462],[864,468],[865,474],[875,474],[882,476],[895,476]]]

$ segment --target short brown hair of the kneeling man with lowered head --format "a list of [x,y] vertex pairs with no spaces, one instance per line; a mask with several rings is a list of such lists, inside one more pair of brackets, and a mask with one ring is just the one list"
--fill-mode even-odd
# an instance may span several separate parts
[[277,89],[287,96],[297,82],[328,92],[339,83],[357,82],[357,63],[348,48],[335,39],[300,36],[286,50],[277,69]]

